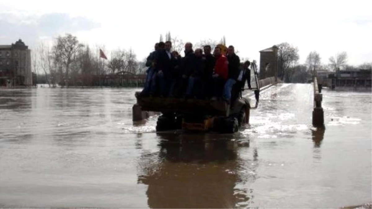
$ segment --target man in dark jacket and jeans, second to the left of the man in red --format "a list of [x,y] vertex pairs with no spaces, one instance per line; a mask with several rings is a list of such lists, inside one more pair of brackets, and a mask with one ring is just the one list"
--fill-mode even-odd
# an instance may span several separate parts
[[[202,96],[202,78],[204,77],[204,65],[205,65],[205,58],[202,56],[203,51],[202,49],[195,49],[195,58],[192,62],[192,69],[190,71],[189,82],[186,89],[186,97],[198,96],[199,98]],[[193,90],[195,84],[199,84],[201,88],[199,88],[198,94],[194,94]]]

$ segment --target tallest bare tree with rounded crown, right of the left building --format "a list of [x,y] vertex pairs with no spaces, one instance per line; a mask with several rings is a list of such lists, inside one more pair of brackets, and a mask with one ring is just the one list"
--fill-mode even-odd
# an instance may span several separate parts
[[68,87],[68,72],[71,63],[76,61],[77,52],[83,44],[79,44],[76,36],[67,33],[65,36],[58,36],[54,51],[58,54],[61,63],[65,67],[65,85]]

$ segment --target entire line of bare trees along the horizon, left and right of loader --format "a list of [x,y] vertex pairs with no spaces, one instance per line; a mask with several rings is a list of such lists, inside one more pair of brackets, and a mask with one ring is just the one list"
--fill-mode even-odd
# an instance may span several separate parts
[[[160,35],[159,41],[171,41],[172,50],[182,54],[185,42],[177,37],[171,37],[167,32],[165,39]],[[226,44],[225,36],[221,40],[206,39],[197,42],[194,48],[204,45],[212,48],[218,44]],[[321,62],[318,52],[312,51],[305,63],[300,64],[298,48],[283,42],[278,44],[278,77],[288,83],[306,83],[315,71],[337,71],[340,69],[372,69],[372,62],[360,66],[347,65],[347,53],[330,57],[328,63]],[[32,52],[33,71],[38,74],[38,83],[49,86],[99,86],[106,75],[122,77],[123,75],[145,74],[146,58],[137,60],[135,52],[118,48],[110,54],[109,60],[100,58],[99,49],[105,51],[105,46],[82,44],[76,36],[69,33],[58,36],[52,45],[40,43]],[[236,50],[238,53],[238,50]],[[247,58],[241,58],[242,61]],[[123,86],[123,79],[115,81],[116,86]]]

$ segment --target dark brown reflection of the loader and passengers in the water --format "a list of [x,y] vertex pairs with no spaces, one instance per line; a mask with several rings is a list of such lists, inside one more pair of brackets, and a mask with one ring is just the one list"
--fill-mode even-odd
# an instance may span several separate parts
[[158,137],[160,150],[142,155],[148,164],[138,176],[148,185],[150,208],[235,208],[248,202],[249,190],[235,188],[241,160],[233,135]]

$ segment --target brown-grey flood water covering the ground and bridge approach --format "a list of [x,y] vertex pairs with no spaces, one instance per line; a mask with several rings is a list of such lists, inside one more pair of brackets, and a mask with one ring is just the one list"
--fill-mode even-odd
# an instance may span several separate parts
[[340,208],[372,201],[372,93],[262,91],[233,135],[132,123],[138,89],[1,89],[0,206]]

